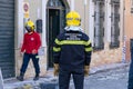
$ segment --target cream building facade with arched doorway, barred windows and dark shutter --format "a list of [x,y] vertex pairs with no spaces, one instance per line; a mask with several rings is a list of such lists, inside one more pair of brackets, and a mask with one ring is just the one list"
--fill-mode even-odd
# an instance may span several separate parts
[[[20,72],[20,48],[25,32],[23,27],[29,18],[41,36],[39,57],[41,76],[44,76],[52,68],[54,38],[64,30],[65,14],[71,10],[80,13],[81,27],[92,41],[94,50],[91,67],[121,62],[123,0],[0,0],[0,67],[3,77],[11,78]],[[33,71],[30,62],[25,77],[33,77]]]

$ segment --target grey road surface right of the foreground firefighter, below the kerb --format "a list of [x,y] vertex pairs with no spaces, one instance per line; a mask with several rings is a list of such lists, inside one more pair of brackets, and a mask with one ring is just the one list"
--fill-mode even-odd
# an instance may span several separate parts
[[126,89],[127,72],[129,66],[91,75],[85,78],[84,89]]

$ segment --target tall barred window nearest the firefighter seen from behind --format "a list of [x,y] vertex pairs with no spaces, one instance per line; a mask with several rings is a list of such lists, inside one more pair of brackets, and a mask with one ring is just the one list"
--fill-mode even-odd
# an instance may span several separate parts
[[93,0],[94,6],[94,49],[104,48],[104,0]]

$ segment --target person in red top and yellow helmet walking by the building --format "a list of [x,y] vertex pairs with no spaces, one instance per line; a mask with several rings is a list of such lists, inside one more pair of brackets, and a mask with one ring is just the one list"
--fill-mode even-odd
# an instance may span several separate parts
[[23,81],[28,63],[30,59],[32,59],[35,69],[35,77],[33,80],[38,80],[40,73],[38,50],[41,46],[41,40],[39,33],[34,31],[34,23],[31,20],[25,23],[25,30],[28,32],[24,34],[23,44],[21,48],[21,55],[23,53],[23,62],[20,69],[20,76],[17,77],[17,79]]

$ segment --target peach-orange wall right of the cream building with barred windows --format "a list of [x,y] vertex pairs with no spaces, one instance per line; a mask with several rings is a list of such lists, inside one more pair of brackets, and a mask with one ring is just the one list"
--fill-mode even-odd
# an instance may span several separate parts
[[125,0],[124,29],[126,36],[126,59],[131,59],[130,39],[133,38],[133,13],[131,13],[131,0]]

